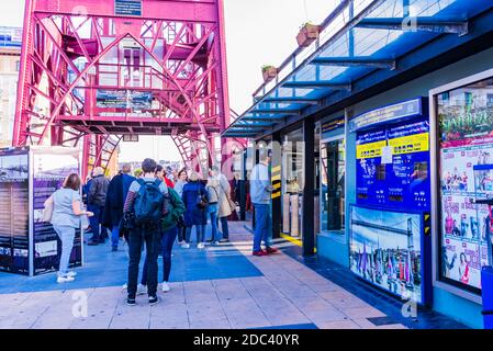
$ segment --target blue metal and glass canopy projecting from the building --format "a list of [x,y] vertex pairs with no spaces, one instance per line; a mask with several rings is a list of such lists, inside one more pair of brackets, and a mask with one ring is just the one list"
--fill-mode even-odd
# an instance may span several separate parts
[[[290,55],[222,136],[270,134],[290,118],[316,113],[493,32],[492,21],[492,0],[341,0],[321,25],[320,38]],[[432,45],[446,36],[453,45]],[[408,59],[427,47],[426,55]]]

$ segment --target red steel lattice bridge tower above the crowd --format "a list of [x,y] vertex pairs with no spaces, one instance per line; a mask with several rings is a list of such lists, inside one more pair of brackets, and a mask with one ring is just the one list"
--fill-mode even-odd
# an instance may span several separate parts
[[231,122],[223,0],[26,0],[18,89],[13,146],[82,145],[83,177],[135,135],[199,168]]

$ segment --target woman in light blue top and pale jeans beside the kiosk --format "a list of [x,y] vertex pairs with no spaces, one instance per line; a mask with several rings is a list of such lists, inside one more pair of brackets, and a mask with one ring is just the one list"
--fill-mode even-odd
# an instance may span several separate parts
[[77,173],[69,174],[56,192],[46,201],[46,206],[52,206],[51,223],[61,240],[61,257],[57,273],[57,282],[71,282],[77,275],[69,271],[70,254],[74,248],[76,229],[80,228],[80,217],[92,217],[93,213],[85,211],[80,199],[80,177]]

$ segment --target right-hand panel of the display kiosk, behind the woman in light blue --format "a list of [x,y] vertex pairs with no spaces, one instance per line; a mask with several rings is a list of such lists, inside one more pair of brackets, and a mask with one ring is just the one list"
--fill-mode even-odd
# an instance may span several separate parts
[[[61,254],[61,241],[53,226],[42,219],[44,202],[61,186],[68,174],[79,173],[78,152],[68,149],[35,150],[33,163],[34,274],[40,274],[58,269]],[[82,263],[79,229],[76,230],[70,263],[72,267]]]

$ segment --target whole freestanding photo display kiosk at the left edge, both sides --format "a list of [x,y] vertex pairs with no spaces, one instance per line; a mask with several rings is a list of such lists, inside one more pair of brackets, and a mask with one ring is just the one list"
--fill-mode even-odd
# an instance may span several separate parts
[[[66,147],[0,149],[0,271],[37,275],[58,269],[61,241],[43,222],[44,202],[70,173],[80,173],[79,150]],[[82,264],[76,230],[72,267]]]

